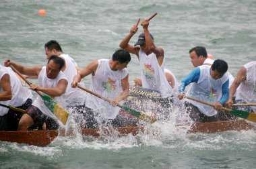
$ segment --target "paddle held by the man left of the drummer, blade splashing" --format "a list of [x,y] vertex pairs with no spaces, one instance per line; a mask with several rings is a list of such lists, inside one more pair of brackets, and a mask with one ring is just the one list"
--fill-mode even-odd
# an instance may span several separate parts
[[[100,95],[98,95],[97,93],[94,93],[84,87],[81,87],[81,86],[77,86],[79,89],[82,89],[83,91],[86,91],[88,93],[90,93],[91,95],[94,95],[104,101],[107,101],[108,103],[110,103],[110,100],[106,99],[105,97],[102,97]],[[146,115],[146,113],[141,113],[139,111],[136,111],[134,109],[130,109],[129,107],[125,107],[123,105],[119,105],[117,104],[118,107],[120,107],[121,109],[124,109],[125,111],[127,111],[128,113],[130,113],[131,115],[134,115],[135,117],[139,117],[139,119],[143,120],[143,121],[147,121],[147,122],[150,122],[150,123],[154,123],[157,119],[154,118],[154,117],[151,117],[150,115]]]

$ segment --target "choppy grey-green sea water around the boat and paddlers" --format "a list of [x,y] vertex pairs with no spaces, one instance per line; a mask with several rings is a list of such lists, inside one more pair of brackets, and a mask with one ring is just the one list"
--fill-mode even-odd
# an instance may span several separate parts
[[[228,62],[235,76],[255,60],[256,1],[1,1],[0,62],[46,64],[44,44],[58,40],[81,68],[111,58],[139,17],[150,21],[166,67],[181,80],[192,68],[189,49],[205,46]],[[45,9],[45,17],[38,16]],[[137,34],[141,33],[139,27]],[[131,43],[135,43],[135,36]],[[132,56],[131,84],[139,76]],[[86,86],[90,78],[86,78]],[[48,147],[0,143],[0,168],[255,168],[256,132],[187,134],[172,123],[156,123],[160,134],[95,139],[59,137]]]

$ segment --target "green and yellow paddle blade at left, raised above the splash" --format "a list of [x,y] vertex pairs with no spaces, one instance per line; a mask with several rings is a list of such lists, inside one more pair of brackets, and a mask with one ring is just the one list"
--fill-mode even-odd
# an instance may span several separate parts
[[42,100],[44,101],[44,105],[65,125],[69,113],[49,96],[42,95]]

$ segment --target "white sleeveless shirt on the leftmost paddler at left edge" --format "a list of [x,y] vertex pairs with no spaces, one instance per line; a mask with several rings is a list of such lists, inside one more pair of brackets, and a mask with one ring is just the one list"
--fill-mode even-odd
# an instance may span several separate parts
[[22,85],[20,78],[18,78],[17,74],[13,72],[13,70],[9,67],[6,68],[11,81],[11,94],[12,98],[9,102],[9,105],[12,107],[19,107],[26,103],[27,99],[32,99],[33,95],[31,90],[25,85]]

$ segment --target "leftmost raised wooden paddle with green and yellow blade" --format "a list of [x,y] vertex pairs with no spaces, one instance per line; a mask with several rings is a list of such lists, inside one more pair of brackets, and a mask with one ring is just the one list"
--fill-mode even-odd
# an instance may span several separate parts
[[[10,65],[12,70],[18,74],[28,85],[32,84],[29,82],[18,70],[16,70],[12,65]],[[47,95],[42,95],[40,92],[36,91],[36,93],[42,97],[44,101],[44,105],[51,111],[53,114],[65,125],[67,123],[67,118],[69,117],[69,113],[61,105],[56,103],[51,97]]]

